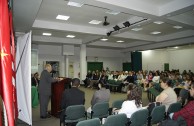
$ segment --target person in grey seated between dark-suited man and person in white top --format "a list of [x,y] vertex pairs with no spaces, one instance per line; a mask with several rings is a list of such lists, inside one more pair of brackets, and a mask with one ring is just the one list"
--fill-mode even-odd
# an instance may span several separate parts
[[98,83],[99,90],[95,91],[91,100],[91,107],[88,108],[87,112],[92,111],[92,107],[99,102],[109,102],[110,90],[105,88],[105,85]]

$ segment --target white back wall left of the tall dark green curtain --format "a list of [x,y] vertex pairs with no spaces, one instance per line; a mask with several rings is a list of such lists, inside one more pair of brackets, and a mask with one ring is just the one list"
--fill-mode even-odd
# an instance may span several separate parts
[[[65,56],[62,55],[62,46],[60,45],[38,45],[38,72],[41,73],[45,61],[60,62],[60,76],[65,76]],[[121,53],[120,50],[87,48],[87,61],[95,62],[98,57],[99,62],[103,62],[104,69],[122,70],[123,62],[131,61],[130,53]],[[80,72],[80,47],[75,47],[75,55],[68,56],[69,62],[73,63],[74,77],[78,77]]]

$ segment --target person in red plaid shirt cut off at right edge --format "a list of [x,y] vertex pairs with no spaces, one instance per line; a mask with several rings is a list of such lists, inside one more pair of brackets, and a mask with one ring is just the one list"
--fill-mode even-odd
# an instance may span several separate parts
[[[194,97],[194,83],[191,84],[190,96]],[[177,120],[178,117],[180,116],[187,122],[187,126],[193,126],[194,124],[194,100],[187,103],[187,105],[185,105],[180,111],[170,114],[170,117],[173,120]]]

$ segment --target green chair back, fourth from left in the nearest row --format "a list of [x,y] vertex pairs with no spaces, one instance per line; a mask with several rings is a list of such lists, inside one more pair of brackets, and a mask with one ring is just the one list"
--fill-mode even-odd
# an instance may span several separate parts
[[162,120],[164,120],[164,117],[165,117],[165,106],[164,105],[156,106],[153,108],[151,112],[151,123],[156,124],[162,122]]

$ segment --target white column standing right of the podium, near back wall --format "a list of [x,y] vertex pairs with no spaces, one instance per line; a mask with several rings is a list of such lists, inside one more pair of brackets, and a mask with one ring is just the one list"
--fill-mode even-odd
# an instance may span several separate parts
[[87,74],[86,44],[82,44],[80,47],[80,80],[84,80]]

